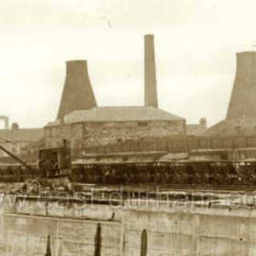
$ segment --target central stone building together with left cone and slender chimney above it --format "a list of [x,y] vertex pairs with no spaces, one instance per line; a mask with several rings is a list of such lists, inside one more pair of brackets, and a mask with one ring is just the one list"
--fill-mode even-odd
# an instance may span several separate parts
[[[171,99],[171,97],[170,97]],[[186,120],[158,108],[154,36],[144,37],[144,106],[98,107],[86,60],[67,62],[58,119],[45,127],[45,146],[71,148],[186,133]]]

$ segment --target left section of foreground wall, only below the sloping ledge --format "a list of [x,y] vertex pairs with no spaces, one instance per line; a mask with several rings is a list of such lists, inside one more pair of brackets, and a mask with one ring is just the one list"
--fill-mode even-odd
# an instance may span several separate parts
[[101,255],[120,256],[120,223],[25,215],[0,218],[0,255],[44,256],[48,235],[53,256],[94,255],[98,225],[101,227]]

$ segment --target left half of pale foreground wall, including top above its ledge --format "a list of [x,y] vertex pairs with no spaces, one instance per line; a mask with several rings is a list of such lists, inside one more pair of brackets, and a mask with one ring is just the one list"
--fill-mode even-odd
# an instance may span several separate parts
[[56,202],[48,206],[46,202],[1,197],[0,255],[44,256],[48,236],[52,256],[94,255],[96,250],[102,256],[122,255],[122,216],[116,210],[111,221],[112,211],[106,205],[87,205],[82,210],[69,202],[61,201],[59,208]]

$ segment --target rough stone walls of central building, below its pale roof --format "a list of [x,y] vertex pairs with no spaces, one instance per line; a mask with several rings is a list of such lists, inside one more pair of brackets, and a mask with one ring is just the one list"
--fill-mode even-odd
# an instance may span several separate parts
[[45,127],[47,147],[57,147],[63,138],[68,139],[71,149],[82,150],[88,146],[114,144],[127,140],[185,134],[184,121],[169,122],[116,122],[72,123]]

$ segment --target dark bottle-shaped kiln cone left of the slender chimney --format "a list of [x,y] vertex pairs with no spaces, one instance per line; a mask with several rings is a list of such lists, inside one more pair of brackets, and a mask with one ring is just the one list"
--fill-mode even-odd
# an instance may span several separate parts
[[69,112],[97,107],[86,60],[66,62],[66,80],[59,104],[58,119]]

